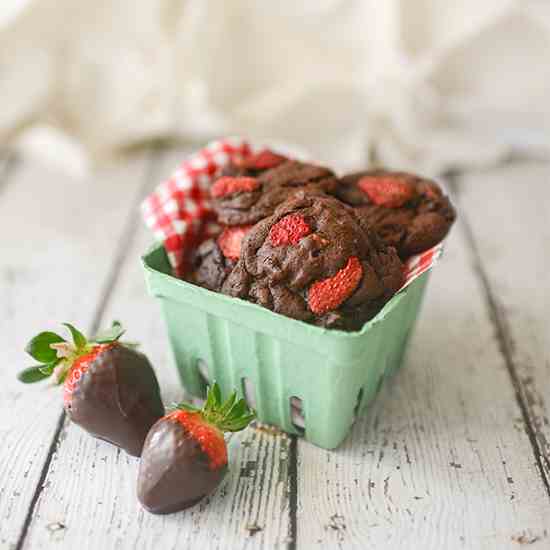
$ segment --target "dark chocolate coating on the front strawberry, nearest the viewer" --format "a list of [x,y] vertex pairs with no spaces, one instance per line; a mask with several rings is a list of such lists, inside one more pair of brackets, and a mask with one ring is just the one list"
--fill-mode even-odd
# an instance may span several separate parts
[[153,514],[193,506],[223,480],[227,466],[210,469],[208,456],[173,418],[162,418],[149,431],[139,466],[137,495]]

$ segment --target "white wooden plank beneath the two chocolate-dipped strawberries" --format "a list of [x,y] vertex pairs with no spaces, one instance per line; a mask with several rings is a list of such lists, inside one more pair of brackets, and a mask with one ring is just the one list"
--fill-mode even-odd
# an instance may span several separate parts
[[[181,156],[167,155],[163,175]],[[121,319],[128,336],[142,342],[157,369],[164,401],[171,403],[181,398],[181,390],[159,309],[146,295],[138,262],[150,242],[149,232],[140,228],[104,319]],[[286,435],[264,430],[234,435],[230,472],[218,490],[184,513],[154,516],[140,508],[135,496],[138,460],[67,425],[29,529],[28,547],[56,541],[81,550],[284,548],[291,529],[291,446]]]

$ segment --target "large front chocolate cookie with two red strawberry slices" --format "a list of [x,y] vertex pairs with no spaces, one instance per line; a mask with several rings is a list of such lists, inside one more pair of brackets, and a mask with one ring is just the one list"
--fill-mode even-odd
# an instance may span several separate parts
[[294,319],[357,330],[403,280],[395,249],[353,208],[302,194],[250,229],[222,292]]

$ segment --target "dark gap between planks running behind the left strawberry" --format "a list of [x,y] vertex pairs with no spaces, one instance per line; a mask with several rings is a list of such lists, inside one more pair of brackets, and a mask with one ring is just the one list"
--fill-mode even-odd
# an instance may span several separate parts
[[[147,168],[143,176],[143,181],[140,185],[139,192],[136,194],[134,201],[132,201],[132,203],[130,204],[130,209],[127,215],[127,219],[126,219],[122,234],[119,238],[119,244],[117,245],[116,254],[113,259],[111,269],[107,274],[105,283],[103,285],[103,289],[100,293],[99,302],[95,309],[88,334],[94,334],[99,330],[103,313],[112,296],[113,288],[116,285],[118,274],[120,273],[121,267],[124,264],[126,255],[131,249],[132,242],[136,234],[136,227],[139,223],[139,218],[136,215],[136,211],[142,199],[144,198],[145,194],[147,193],[148,189],[151,187],[151,182],[154,181],[154,176],[155,176],[157,167],[160,164],[160,158],[161,158],[160,149],[154,148],[151,150],[151,152],[149,152],[148,155],[149,155],[149,159],[147,162]],[[9,157],[7,160],[7,167],[6,167],[6,170],[8,170],[8,174],[13,173],[14,164],[15,164],[14,157]],[[2,181],[0,181],[0,184],[1,183]],[[1,187],[0,187],[0,190],[1,190]],[[25,544],[25,539],[29,531],[29,526],[31,524],[34,511],[36,509],[36,504],[40,498],[42,491],[44,490],[44,483],[46,480],[46,476],[48,474],[48,470],[50,468],[50,464],[52,462],[52,458],[54,456],[55,451],[58,449],[61,443],[60,436],[63,430],[63,426],[65,425],[65,421],[66,421],[66,413],[65,413],[65,410],[63,409],[62,412],[59,414],[59,419],[57,421],[56,429],[52,436],[48,454],[46,455],[46,459],[42,466],[40,477],[38,479],[34,494],[29,504],[29,509],[27,511],[25,521],[21,528],[21,534],[15,545],[15,550],[21,550],[23,548],[23,545]]]

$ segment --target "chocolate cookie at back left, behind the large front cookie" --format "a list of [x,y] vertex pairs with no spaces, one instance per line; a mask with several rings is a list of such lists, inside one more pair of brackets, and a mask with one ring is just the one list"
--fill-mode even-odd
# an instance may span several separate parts
[[[229,173],[230,170],[231,167]],[[213,209],[224,225],[256,223],[273,214],[297,190],[322,194],[337,186],[334,173],[328,168],[295,160],[283,160],[260,172],[239,168],[233,173],[222,175],[210,190]]]

